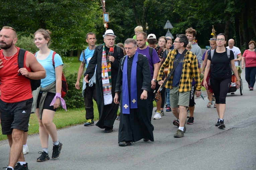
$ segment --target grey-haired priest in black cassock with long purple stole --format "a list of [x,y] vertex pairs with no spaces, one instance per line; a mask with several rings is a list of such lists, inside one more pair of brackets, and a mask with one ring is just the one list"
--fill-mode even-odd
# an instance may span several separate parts
[[[119,146],[131,145],[141,139],[154,141],[149,118],[148,92],[151,90],[151,73],[146,56],[136,52],[137,42],[128,38],[124,42],[126,56],[120,60],[114,102],[119,104]],[[120,93],[121,92],[121,93]],[[120,95],[120,96],[119,96]]]

